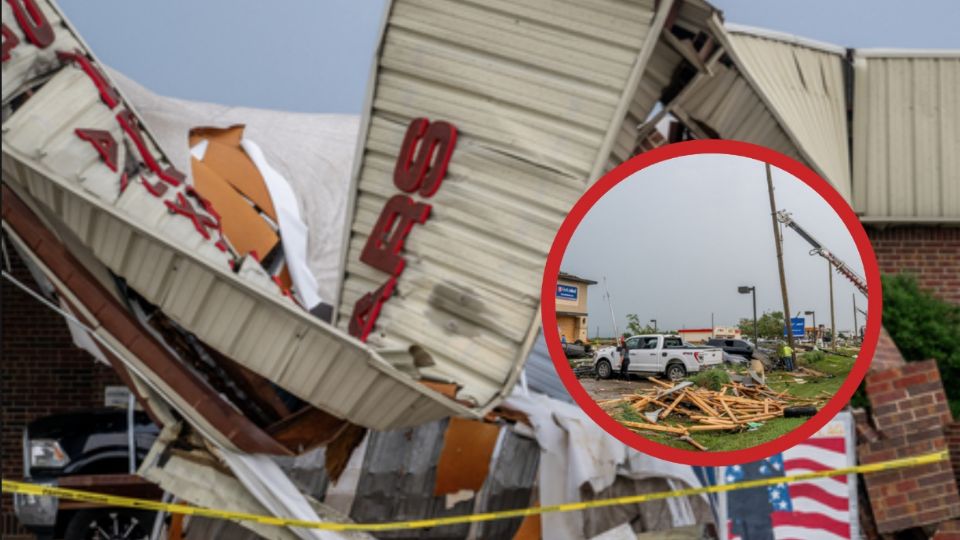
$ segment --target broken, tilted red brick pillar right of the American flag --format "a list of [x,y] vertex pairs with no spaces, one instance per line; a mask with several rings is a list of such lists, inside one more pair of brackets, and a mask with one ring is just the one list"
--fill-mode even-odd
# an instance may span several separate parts
[[[880,437],[858,447],[860,463],[944,450],[952,422],[933,360],[871,371],[866,380],[873,425]],[[864,476],[881,533],[960,517],[960,494],[949,461]]]

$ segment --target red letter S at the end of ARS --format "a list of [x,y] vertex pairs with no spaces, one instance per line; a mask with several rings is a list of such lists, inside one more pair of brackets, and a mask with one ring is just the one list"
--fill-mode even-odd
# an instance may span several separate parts
[[397,156],[394,185],[407,193],[419,189],[420,195],[432,196],[447,174],[447,165],[456,144],[457,128],[453,124],[414,118],[407,127]]

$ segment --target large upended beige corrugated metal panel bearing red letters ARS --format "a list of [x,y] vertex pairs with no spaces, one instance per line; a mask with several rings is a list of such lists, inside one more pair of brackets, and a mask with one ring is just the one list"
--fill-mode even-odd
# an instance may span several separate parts
[[480,407],[509,391],[539,327],[556,228],[606,163],[671,2],[654,4],[393,2],[354,178],[341,328],[390,278],[360,253],[401,193],[393,170],[408,123],[450,122],[446,179],[414,199],[430,218],[406,237],[406,266],[369,343],[401,357],[422,347],[435,365],[420,371],[456,381],[457,397]]

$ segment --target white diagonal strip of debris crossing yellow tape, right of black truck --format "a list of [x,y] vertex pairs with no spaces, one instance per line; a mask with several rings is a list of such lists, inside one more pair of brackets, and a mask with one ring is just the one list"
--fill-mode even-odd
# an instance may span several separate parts
[[[243,487],[267,508],[271,515],[321,521],[313,507],[283,469],[267,456],[234,453],[223,448],[217,453],[226,462]],[[334,531],[289,528],[304,540],[334,540],[348,536]]]

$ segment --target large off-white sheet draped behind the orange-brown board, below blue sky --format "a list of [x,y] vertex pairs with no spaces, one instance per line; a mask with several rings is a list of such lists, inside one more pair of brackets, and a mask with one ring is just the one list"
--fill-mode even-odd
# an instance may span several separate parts
[[360,118],[173,99],[150,92],[122,73],[109,68],[107,72],[150,126],[173,165],[188,177],[191,129],[246,126],[244,136],[257,142],[266,161],[296,194],[308,231],[306,264],[317,280],[317,294],[337,305],[340,248]]

